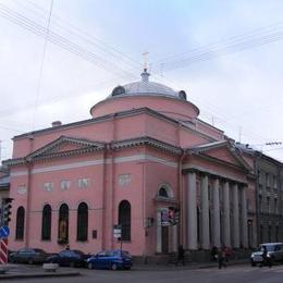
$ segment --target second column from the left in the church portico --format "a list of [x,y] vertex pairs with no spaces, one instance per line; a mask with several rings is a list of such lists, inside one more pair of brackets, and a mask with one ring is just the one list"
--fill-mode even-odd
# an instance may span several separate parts
[[201,247],[209,249],[209,202],[208,202],[208,176],[201,175]]

